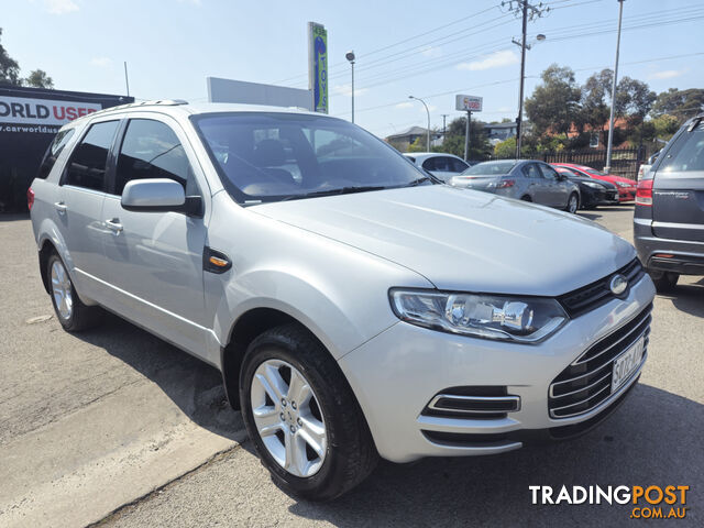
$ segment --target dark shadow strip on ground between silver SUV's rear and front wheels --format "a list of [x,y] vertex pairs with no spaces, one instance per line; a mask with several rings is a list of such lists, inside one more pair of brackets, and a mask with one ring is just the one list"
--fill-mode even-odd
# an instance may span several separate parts
[[106,314],[96,329],[75,336],[156,383],[195,424],[230,440],[243,440],[241,415],[228,404],[222,376],[213,366],[112,314]]

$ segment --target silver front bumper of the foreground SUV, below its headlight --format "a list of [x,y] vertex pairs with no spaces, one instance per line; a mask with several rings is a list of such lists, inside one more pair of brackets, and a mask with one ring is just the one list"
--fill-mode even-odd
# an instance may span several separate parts
[[[398,322],[340,359],[380,454],[393,462],[424,457],[495,454],[534,439],[568,438],[593,427],[623,400],[645,363],[604,402],[551,418],[549,387],[594,343],[617,332],[652,302],[644,276],[624,300],[612,300],[537,345],[475,339]],[[607,367],[610,369],[610,367]],[[606,372],[606,371],[605,371]],[[497,418],[428,416],[448,387],[505,387],[519,408]]]

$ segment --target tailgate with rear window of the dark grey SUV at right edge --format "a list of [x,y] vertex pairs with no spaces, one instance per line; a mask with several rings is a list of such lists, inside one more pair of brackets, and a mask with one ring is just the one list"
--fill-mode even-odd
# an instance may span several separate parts
[[680,132],[663,156],[650,172],[652,231],[704,242],[704,119]]

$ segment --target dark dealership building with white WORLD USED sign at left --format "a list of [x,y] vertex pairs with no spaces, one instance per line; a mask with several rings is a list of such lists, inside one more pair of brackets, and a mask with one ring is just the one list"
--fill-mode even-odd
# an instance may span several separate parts
[[133,97],[0,85],[0,211],[26,208],[26,190],[61,127]]

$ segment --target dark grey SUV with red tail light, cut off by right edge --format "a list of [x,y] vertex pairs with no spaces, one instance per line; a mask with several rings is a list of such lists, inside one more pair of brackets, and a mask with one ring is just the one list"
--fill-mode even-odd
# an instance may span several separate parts
[[634,235],[658,292],[704,275],[704,112],[670,140],[638,183]]

